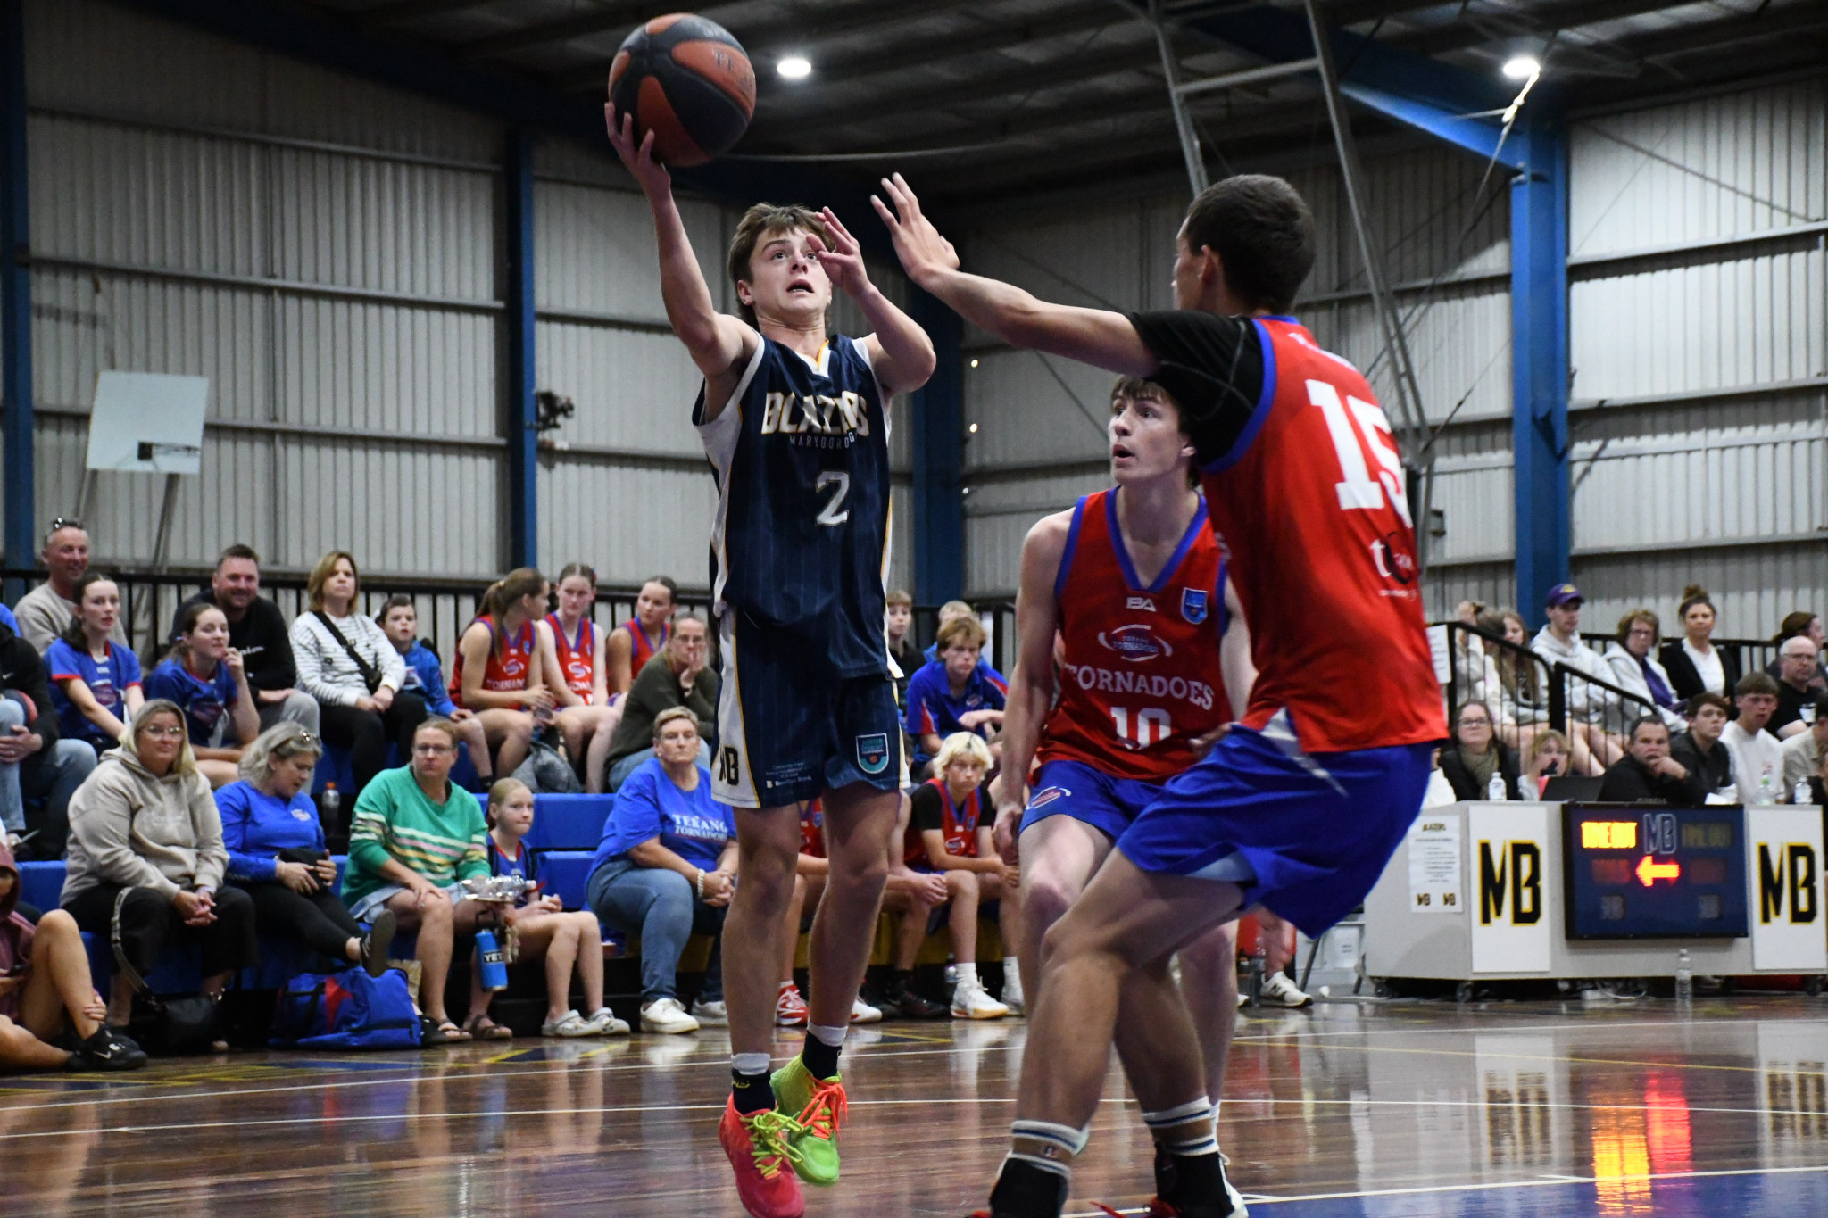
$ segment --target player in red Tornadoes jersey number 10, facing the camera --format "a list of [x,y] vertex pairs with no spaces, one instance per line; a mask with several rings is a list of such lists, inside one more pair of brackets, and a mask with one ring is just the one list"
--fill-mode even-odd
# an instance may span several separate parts
[[[1022,544],[1004,774],[1027,774],[1031,758],[1038,769],[1026,807],[1022,785],[998,778],[996,835],[1011,862],[1020,847],[1029,984],[1047,928],[1163,783],[1217,741],[1256,677],[1179,407],[1126,376],[1111,389],[1108,431],[1117,486],[1044,517]],[[1236,924],[1221,922],[1179,951],[1214,1105],[1238,1023],[1236,950]],[[1144,1079],[1161,986],[1174,986],[1166,957],[1139,970],[1117,1017],[1117,1055]],[[1157,1194],[1172,1205],[1166,1165],[1157,1156]]]

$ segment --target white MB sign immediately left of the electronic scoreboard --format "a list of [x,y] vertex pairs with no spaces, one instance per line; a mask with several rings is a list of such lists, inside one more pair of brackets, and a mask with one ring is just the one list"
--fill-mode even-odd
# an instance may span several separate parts
[[1546,803],[1466,807],[1468,893],[1473,973],[1546,973],[1550,968],[1548,887],[1556,858]]

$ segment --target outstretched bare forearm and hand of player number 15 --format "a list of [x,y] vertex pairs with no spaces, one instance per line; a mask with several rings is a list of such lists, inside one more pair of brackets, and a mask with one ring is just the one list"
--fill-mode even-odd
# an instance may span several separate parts
[[1124,376],[1150,376],[1161,365],[1121,312],[1049,305],[1011,283],[962,272],[952,243],[921,214],[919,199],[899,173],[883,179],[883,192],[894,208],[877,195],[870,195],[870,203],[894,236],[901,268],[965,321],[1011,347],[1068,356]]

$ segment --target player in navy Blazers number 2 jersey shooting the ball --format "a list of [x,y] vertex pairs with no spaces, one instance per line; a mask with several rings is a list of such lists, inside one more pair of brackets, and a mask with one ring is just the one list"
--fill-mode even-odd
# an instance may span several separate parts
[[[717,471],[711,531],[724,681],[713,791],[735,807],[742,884],[724,926],[731,1096],[718,1127],[757,1218],[797,1218],[795,1180],[837,1180],[837,1054],[868,964],[903,780],[883,634],[888,400],[932,374],[925,331],[870,283],[826,208],[757,205],[729,250],[742,316],[717,312],[653,133],[607,111],[647,195],[673,332],[704,373],[693,424]],[[834,289],[874,327],[826,332]],[[813,919],[802,1052],[770,1076],[799,807],[823,796],[830,878]]]

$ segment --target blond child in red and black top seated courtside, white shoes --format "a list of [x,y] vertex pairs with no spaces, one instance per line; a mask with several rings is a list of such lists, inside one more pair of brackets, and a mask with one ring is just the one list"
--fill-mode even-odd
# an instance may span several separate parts
[[[976,625],[972,621],[971,625]],[[947,648],[941,648],[945,654]],[[978,979],[978,909],[998,902],[998,922],[1005,944],[1022,942],[1022,875],[996,853],[991,840],[994,809],[983,791],[983,776],[991,769],[991,751],[969,730],[951,732],[932,758],[934,776],[909,796],[909,827],[903,836],[903,860],[910,871],[936,871],[945,877],[952,933],[952,964],[958,982],[952,986],[954,1019],[1002,1019],[1009,1006],[993,999]],[[912,948],[919,951],[927,926],[918,919],[901,920],[901,961],[912,964]],[[1013,970],[1005,973],[1009,992]],[[1020,982],[1016,982],[1020,993]]]

